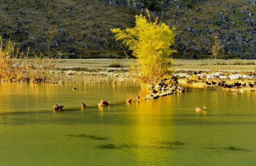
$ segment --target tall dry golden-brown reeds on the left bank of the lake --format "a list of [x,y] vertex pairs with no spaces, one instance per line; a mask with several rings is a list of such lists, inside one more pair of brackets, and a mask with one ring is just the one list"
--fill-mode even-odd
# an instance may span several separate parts
[[[29,50],[29,49],[28,49]],[[9,39],[6,43],[0,37],[0,80],[4,82],[55,83],[52,71],[56,60],[47,56],[28,58]]]

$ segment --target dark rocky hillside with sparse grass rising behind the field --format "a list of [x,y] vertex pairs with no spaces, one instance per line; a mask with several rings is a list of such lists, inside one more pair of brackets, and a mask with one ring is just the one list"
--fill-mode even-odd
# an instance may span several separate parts
[[150,9],[178,34],[175,58],[210,58],[212,33],[220,58],[256,58],[256,0],[1,0],[0,35],[20,50],[65,58],[116,58],[122,45],[111,28],[132,27]]

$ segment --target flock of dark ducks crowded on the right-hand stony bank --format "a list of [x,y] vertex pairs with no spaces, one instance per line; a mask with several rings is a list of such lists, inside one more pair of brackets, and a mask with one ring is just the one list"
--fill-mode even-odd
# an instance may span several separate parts
[[[242,87],[245,87],[246,86],[246,83],[244,84],[241,84],[239,83],[238,81],[235,82],[233,84],[227,84],[226,81],[219,81],[219,82],[208,82],[208,81],[205,81],[206,85],[215,85],[215,84],[218,84],[218,86],[222,86],[223,88],[241,88]],[[256,82],[254,81],[254,83],[252,84],[251,82],[248,82],[248,86],[251,87],[251,88],[256,88]]]

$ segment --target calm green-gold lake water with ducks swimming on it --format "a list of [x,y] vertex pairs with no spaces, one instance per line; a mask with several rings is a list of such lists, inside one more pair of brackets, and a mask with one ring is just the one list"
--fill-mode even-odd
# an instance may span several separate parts
[[[0,84],[0,166],[256,165],[256,92],[188,88],[136,101],[137,94],[147,90]],[[98,108],[101,99],[111,105]],[[55,104],[64,111],[53,112]]]

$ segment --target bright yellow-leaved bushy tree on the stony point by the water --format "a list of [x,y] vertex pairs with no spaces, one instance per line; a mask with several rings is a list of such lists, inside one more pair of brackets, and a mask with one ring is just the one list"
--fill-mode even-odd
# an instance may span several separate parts
[[137,65],[132,65],[133,69],[139,73],[143,83],[154,84],[162,79],[168,72],[168,68],[173,63],[169,58],[176,50],[171,49],[176,36],[175,28],[170,29],[158,18],[151,20],[142,15],[135,16],[135,27],[121,30],[112,29],[115,39],[123,43],[133,51],[133,56],[137,58]]

